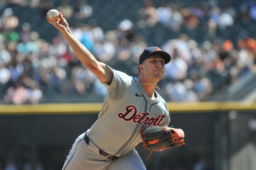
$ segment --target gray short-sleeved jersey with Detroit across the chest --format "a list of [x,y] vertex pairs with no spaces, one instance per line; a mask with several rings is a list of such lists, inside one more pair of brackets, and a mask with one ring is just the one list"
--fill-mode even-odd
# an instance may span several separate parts
[[101,150],[115,156],[131,152],[142,142],[142,127],[167,126],[169,111],[162,97],[150,100],[138,78],[109,69],[114,73],[98,120],[88,135]]

